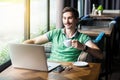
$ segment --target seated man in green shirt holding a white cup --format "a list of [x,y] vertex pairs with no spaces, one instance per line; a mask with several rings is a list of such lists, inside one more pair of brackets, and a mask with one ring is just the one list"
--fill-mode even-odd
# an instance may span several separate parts
[[[24,41],[26,44],[44,44],[52,42],[52,50],[49,60],[52,61],[77,61],[82,51],[86,51],[98,59],[103,59],[100,49],[91,41],[90,37],[77,31],[79,13],[76,9],[65,7],[62,12],[64,28],[54,29],[37,38]],[[71,40],[71,46],[64,44],[65,40]]]

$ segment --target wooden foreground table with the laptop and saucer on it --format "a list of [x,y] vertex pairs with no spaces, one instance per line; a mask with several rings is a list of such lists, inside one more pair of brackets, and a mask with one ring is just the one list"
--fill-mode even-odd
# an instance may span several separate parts
[[72,66],[72,69],[57,73],[17,69],[10,66],[0,73],[0,80],[98,80],[101,69],[99,63],[89,63],[88,67],[73,66],[71,62],[61,64]]

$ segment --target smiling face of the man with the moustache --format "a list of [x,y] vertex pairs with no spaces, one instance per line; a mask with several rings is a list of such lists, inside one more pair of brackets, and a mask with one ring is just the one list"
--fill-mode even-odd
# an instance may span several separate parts
[[78,19],[76,19],[72,12],[65,12],[63,13],[63,25],[66,29],[72,29],[76,27],[76,23]]

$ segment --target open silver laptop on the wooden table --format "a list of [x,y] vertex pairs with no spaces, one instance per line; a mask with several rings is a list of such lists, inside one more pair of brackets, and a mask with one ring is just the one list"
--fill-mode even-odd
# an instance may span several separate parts
[[57,62],[48,62],[44,46],[35,44],[9,44],[12,66],[40,71],[51,71],[60,66]]

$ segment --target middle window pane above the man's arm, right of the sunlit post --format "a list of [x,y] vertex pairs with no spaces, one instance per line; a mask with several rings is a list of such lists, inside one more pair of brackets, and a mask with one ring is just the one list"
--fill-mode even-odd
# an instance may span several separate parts
[[47,0],[30,1],[30,38],[46,32]]

